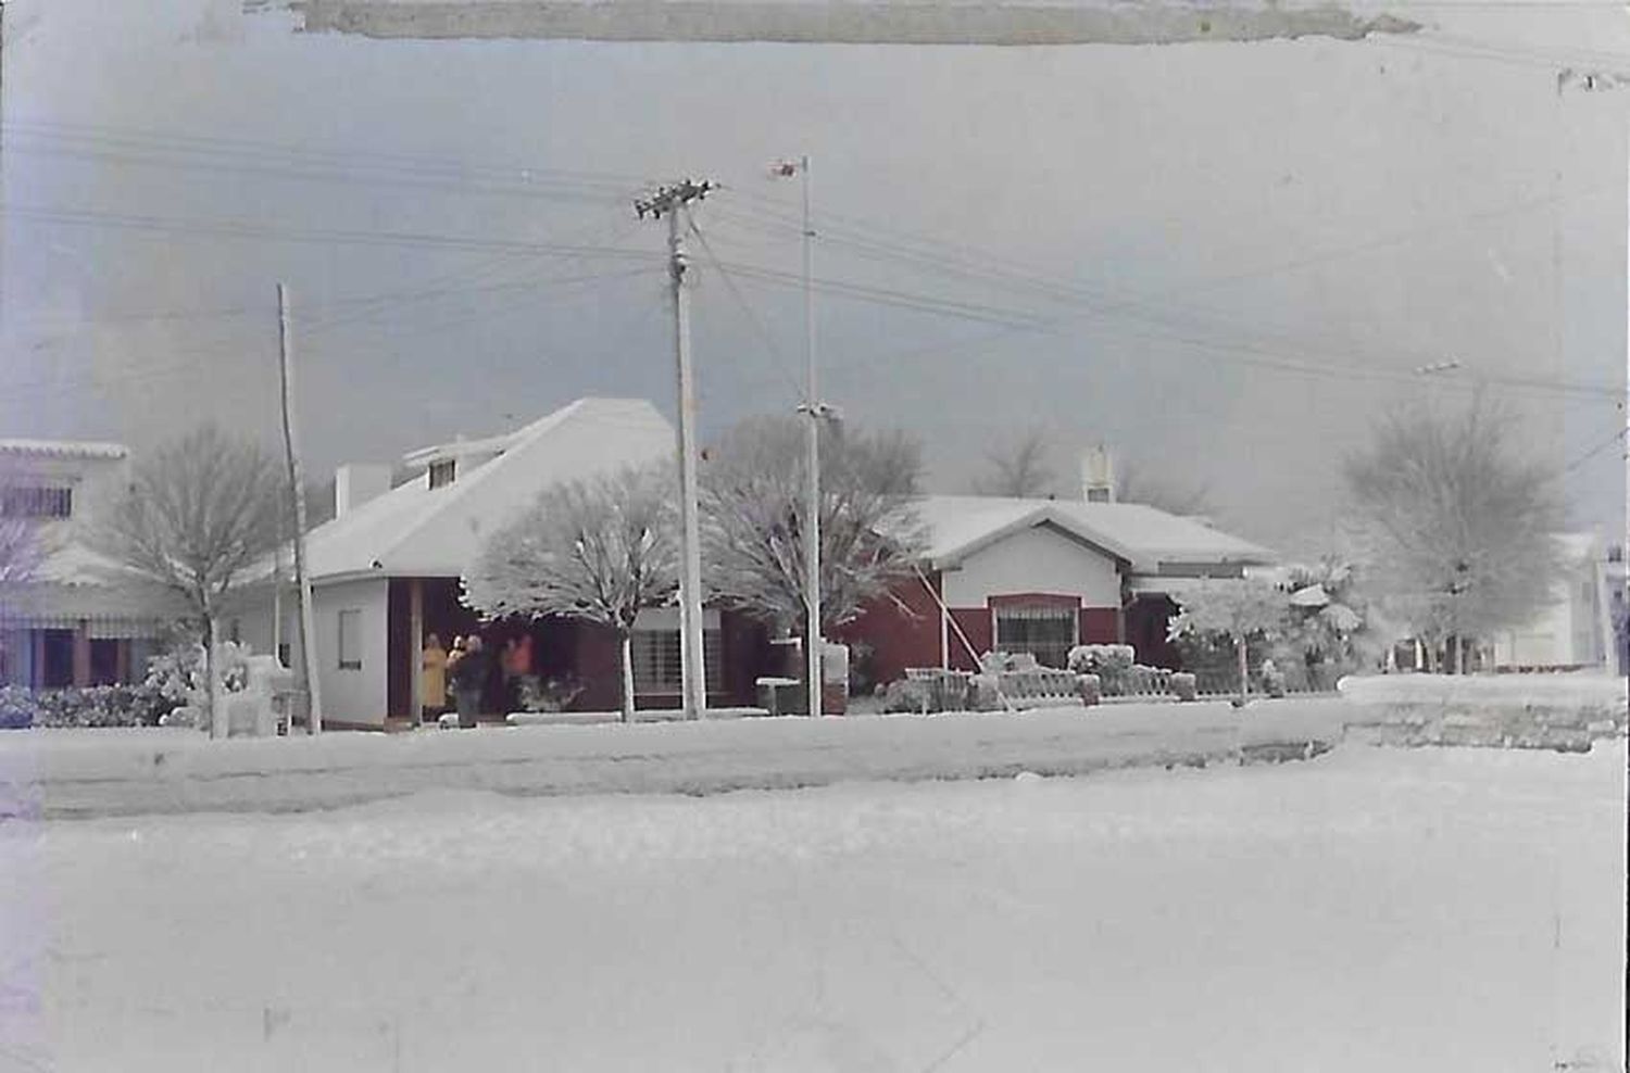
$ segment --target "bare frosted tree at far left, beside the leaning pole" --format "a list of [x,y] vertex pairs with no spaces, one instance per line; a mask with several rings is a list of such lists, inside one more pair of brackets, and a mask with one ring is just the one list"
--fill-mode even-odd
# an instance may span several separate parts
[[204,425],[139,462],[90,534],[109,558],[186,601],[204,640],[214,738],[225,733],[215,659],[222,602],[275,547],[285,501],[269,454]]

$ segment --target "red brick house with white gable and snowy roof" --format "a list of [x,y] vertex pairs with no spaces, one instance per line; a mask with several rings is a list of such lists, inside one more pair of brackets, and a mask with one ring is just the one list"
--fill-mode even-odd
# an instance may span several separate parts
[[1172,596],[1273,562],[1201,519],[1141,503],[931,495],[918,513],[929,532],[919,576],[841,630],[872,648],[879,682],[906,668],[971,669],[993,650],[1063,666],[1092,643],[1175,666]]

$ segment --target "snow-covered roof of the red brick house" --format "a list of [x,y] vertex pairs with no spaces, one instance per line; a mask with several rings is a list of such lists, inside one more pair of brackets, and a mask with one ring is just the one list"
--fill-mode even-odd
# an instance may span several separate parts
[[1268,563],[1265,547],[1229,536],[1193,518],[1178,518],[1143,503],[1014,500],[983,495],[929,495],[918,501],[929,531],[929,558],[955,565],[1020,529],[1053,524],[1139,573],[1161,563]]

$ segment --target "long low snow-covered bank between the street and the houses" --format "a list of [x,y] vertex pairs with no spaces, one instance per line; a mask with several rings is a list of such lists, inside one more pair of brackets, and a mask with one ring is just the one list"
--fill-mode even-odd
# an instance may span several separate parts
[[0,736],[0,791],[10,811],[52,817],[329,808],[432,788],[719,793],[1019,770],[1071,775],[1255,755],[1262,746],[1324,749],[1340,739],[1346,715],[1337,699],[1297,699],[1244,712],[1226,703],[1152,703],[215,742],[202,734],[16,731]]

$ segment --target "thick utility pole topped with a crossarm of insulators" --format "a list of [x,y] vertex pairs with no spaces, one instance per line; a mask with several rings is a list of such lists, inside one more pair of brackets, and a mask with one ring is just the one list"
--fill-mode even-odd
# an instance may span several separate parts
[[703,549],[701,511],[696,490],[696,378],[691,373],[691,303],[685,288],[685,231],[680,212],[699,202],[716,182],[686,179],[665,186],[650,197],[634,202],[634,213],[644,220],[668,218],[668,283],[673,291],[673,357],[678,365],[680,392],[680,516],[683,554],[680,557],[680,659],[685,716],[701,718],[707,712],[707,661],[703,646]]

